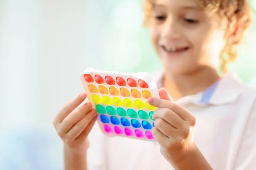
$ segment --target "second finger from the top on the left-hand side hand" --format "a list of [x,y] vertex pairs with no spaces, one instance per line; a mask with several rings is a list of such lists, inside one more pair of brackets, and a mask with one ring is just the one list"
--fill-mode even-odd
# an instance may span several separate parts
[[91,103],[86,103],[82,105],[77,110],[70,113],[63,122],[59,125],[58,129],[61,131],[62,134],[67,133],[71,127],[76,125],[79,120],[81,120],[86,114],[92,109]]

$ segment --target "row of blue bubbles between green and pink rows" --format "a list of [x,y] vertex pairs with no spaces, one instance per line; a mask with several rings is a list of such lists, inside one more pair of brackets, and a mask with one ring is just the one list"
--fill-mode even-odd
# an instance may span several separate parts
[[[100,115],[100,120],[102,123],[112,123],[113,125],[123,125],[124,127],[132,126],[134,128],[140,128],[143,127],[145,130],[152,129],[152,125],[146,121],[143,120],[142,122],[139,122],[137,119],[131,119],[131,122],[126,119],[125,117],[122,117],[120,120],[116,116],[111,116],[110,119],[106,115]],[[154,123],[153,123],[154,127]]]

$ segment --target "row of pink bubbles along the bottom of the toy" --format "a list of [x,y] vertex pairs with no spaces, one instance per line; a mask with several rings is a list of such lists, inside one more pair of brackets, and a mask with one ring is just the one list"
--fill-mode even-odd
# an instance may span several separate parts
[[117,135],[127,135],[127,136],[137,136],[138,138],[144,138],[146,136],[146,138],[150,139],[150,140],[154,140],[154,137],[151,133],[151,131],[146,131],[145,134],[143,133],[143,131],[139,130],[139,129],[135,129],[134,131],[131,130],[128,127],[125,127],[124,130],[122,130],[121,127],[119,126],[115,126],[114,128],[111,127],[110,125],[104,125],[104,129],[107,133],[116,133]]

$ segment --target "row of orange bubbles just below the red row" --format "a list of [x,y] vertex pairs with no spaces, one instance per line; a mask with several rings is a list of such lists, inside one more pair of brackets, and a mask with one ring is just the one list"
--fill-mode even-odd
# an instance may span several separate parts
[[143,90],[142,93],[140,93],[140,91],[138,91],[135,88],[131,89],[131,91],[128,91],[126,88],[120,88],[120,90],[118,90],[117,88],[111,86],[108,89],[104,85],[99,85],[99,89],[98,89],[95,85],[90,84],[88,85],[88,89],[91,93],[98,93],[98,92],[101,94],[110,93],[113,96],[118,96],[119,94],[121,94],[123,97],[133,96],[134,98],[141,98],[141,96],[143,96],[145,99],[148,99],[149,97],[152,96],[151,92],[148,90]]

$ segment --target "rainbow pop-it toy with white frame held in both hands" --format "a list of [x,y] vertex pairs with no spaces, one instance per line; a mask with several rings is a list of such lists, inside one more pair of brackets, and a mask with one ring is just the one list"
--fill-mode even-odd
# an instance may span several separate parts
[[81,81],[105,135],[154,141],[151,130],[156,108],[147,99],[159,97],[159,93],[150,74],[87,68],[81,74]]

